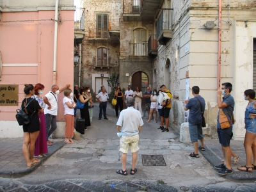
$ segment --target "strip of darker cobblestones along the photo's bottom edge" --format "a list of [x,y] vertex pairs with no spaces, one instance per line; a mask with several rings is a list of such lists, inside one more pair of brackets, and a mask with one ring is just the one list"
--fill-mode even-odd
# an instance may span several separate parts
[[159,183],[156,180],[104,180],[103,182],[82,180],[82,179],[66,179],[57,180],[54,182],[47,182],[40,185],[28,185],[22,184],[18,180],[11,180],[0,178],[0,191],[36,191],[36,192],[57,192],[57,191],[75,191],[75,192],[108,192],[108,191],[161,191],[161,192],[176,192],[176,191],[192,191],[192,192],[216,192],[216,191],[228,191],[228,192],[255,192],[255,183],[233,184],[230,182],[221,182],[219,184],[209,184],[205,187],[202,186],[180,186],[180,188],[173,188],[166,184]]

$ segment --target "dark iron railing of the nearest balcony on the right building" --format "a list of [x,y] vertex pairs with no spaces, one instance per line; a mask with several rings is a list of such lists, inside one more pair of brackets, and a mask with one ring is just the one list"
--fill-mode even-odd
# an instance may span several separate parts
[[172,10],[162,10],[157,19],[157,38],[163,30],[172,30]]

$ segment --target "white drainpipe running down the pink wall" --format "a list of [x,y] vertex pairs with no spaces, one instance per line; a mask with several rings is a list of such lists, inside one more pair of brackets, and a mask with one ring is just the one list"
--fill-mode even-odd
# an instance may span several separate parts
[[59,0],[56,0],[56,5],[55,5],[55,19],[54,19],[55,26],[54,26],[54,47],[53,47],[52,84],[56,84],[56,79],[57,79],[58,8],[59,8]]

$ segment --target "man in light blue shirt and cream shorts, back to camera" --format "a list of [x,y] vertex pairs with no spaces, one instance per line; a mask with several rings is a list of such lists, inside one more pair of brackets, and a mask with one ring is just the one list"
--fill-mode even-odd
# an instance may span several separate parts
[[121,175],[128,175],[126,171],[126,159],[127,152],[131,148],[132,152],[132,168],[131,175],[137,172],[135,164],[137,161],[137,151],[140,149],[138,147],[139,133],[141,131],[143,120],[141,118],[140,111],[133,108],[135,99],[134,97],[127,97],[127,109],[121,111],[117,125],[117,135],[120,138],[120,152],[122,152],[122,170],[116,171],[116,173]]

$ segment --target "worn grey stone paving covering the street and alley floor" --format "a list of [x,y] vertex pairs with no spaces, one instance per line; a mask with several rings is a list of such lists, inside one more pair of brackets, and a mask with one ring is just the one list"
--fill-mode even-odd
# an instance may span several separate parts
[[[189,153],[193,152],[191,143],[180,143],[179,134],[175,131],[170,129],[170,132],[161,132],[156,129],[159,123],[147,124],[146,118],[143,119],[145,125],[140,133],[140,150],[136,163],[138,172],[127,176],[116,174],[116,170],[122,168],[122,163],[118,151],[120,140],[116,136],[115,111],[108,107],[109,120],[97,120],[97,110],[99,111],[95,104],[92,126],[81,140],[70,145],[63,145],[63,139],[53,140],[54,145],[49,147],[52,148],[51,153],[42,157],[44,161],[36,164],[32,170],[26,168],[21,154],[22,140],[2,139],[0,164],[5,164],[1,164],[0,176],[14,177],[15,173],[22,170],[27,175],[16,174],[19,179],[0,178],[0,192],[145,191],[145,188],[147,191],[256,191],[254,180],[248,180],[252,179],[250,174],[255,175],[256,171],[236,171],[232,175],[244,174],[243,177],[232,178],[231,175],[221,177],[214,170],[211,164],[219,164],[221,159],[221,154],[214,152],[220,150],[218,141],[205,141],[206,150],[200,151],[200,158],[189,157]],[[236,148],[237,143],[237,148],[243,153],[243,141],[233,142],[231,147]],[[6,151],[8,147],[13,150]],[[143,166],[141,154],[163,155],[166,166]],[[22,160],[15,162],[15,159]],[[243,165],[243,161],[244,157],[241,155],[238,163]],[[235,166],[233,168],[236,169]],[[127,154],[127,172],[130,169],[131,152]],[[2,170],[12,174],[3,176]],[[165,184],[161,184],[163,182]]]

